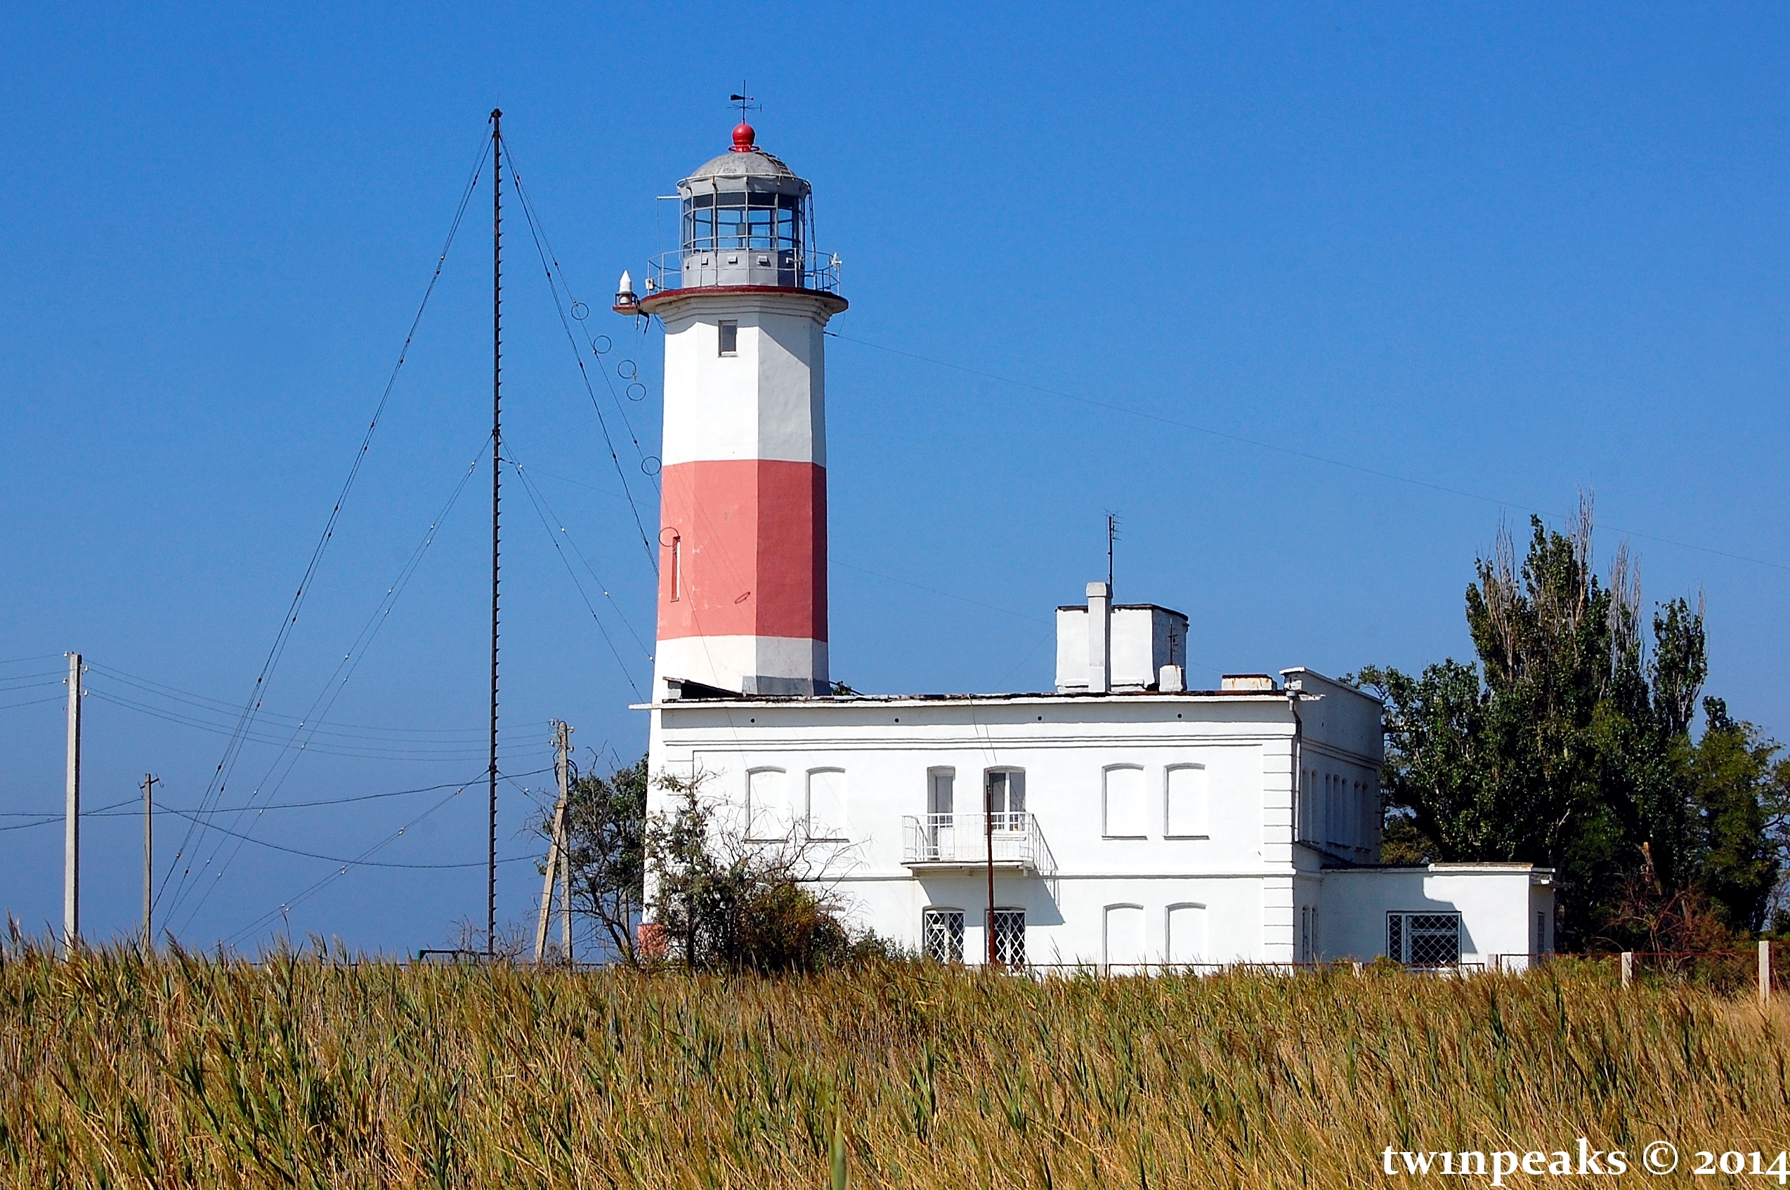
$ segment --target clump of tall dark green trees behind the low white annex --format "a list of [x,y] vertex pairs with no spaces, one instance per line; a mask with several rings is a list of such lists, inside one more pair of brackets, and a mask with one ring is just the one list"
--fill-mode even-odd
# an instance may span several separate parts
[[1686,905],[1756,931],[1783,866],[1776,744],[1726,710],[1692,741],[1702,607],[1661,605],[1649,644],[1627,549],[1593,571],[1590,501],[1568,533],[1530,530],[1522,565],[1502,531],[1477,562],[1477,664],[1355,675],[1385,705],[1382,855],[1550,866],[1566,947],[1658,943],[1666,918],[1684,934]]

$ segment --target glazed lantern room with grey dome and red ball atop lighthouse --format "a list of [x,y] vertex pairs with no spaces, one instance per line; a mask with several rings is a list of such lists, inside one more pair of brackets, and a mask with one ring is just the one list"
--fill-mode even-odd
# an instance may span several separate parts
[[741,123],[729,152],[677,184],[680,247],[659,259],[648,288],[838,290],[838,261],[816,259],[809,184],[755,138]]

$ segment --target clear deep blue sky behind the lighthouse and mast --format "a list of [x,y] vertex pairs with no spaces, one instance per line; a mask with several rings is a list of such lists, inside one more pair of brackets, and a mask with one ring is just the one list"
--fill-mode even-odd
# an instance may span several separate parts
[[[548,719],[585,764],[643,752],[628,497],[650,526],[661,338],[603,299],[669,247],[653,197],[727,145],[741,79],[852,302],[827,376],[834,676],[1047,687],[1051,608],[1103,574],[1106,510],[1119,598],[1190,614],[1196,684],[1464,657],[1475,555],[1584,489],[1600,560],[1629,540],[1649,601],[1700,587],[1709,691],[1786,732],[1786,34],[1776,5],[18,9],[0,907],[59,918],[59,825],[16,816],[61,807],[61,651],[95,666],[88,805],[145,771],[168,805],[204,793],[492,106],[614,344],[591,376],[619,458],[512,206],[507,426],[544,508],[508,487],[499,852],[535,846]],[[439,789],[190,848],[165,905],[190,943],[401,950],[482,916],[483,463],[379,612],[487,431],[489,263],[480,188],[267,691],[304,716],[354,653],[337,727],[286,761],[245,746],[222,803]],[[623,360],[644,401],[612,399]],[[86,827],[90,936],[140,913],[129,809]],[[337,864],[261,845],[354,857],[399,827],[376,859],[474,866],[319,886]],[[499,916],[537,888],[508,864]]]

